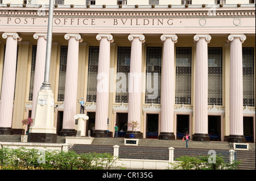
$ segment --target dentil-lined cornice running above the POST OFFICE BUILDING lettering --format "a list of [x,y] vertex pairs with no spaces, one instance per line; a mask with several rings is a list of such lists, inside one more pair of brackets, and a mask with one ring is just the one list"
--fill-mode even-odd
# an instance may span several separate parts
[[[44,8],[45,14],[40,14],[42,9],[39,7],[34,8],[6,8],[0,7],[0,16],[36,16],[36,17],[46,17],[48,16],[48,8]],[[159,8],[159,9],[55,9],[53,12],[55,17],[138,17],[138,18],[150,18],[150,17],[185,17],[185,18],[195,18],[195,17],[204,17],[204,18],[218,18],[218,17],[255,17],[255,7],[254,8],[230,8],[230,9],[214,9],[214,15],[212,10],[207,9],[168,9],[168,8]]]

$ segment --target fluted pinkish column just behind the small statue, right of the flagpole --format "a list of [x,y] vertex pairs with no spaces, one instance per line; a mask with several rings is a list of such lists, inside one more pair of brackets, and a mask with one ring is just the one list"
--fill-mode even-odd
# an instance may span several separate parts
[[63,112],[63,129],[61,136],[75,136],[75,115],[77,106],[77,71],[79,64],[79,42],[82,41],[79,34],[66,34],[68,40],[68,57],[65,78],[65,98]]

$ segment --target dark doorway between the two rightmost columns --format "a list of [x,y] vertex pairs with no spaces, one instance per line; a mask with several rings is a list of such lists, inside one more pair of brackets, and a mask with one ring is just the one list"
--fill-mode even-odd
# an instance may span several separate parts
[[208,116],[210,141],[221,141],[221,116]]

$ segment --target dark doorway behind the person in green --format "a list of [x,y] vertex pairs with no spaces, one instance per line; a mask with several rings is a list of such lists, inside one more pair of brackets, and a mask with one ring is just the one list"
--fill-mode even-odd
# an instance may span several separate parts
[[117,112],[115,124],[117,124],[119,131],[118,137],[125,137],[127,132],[127,126],[125,125],[128,121],[128,113],[126,112]]

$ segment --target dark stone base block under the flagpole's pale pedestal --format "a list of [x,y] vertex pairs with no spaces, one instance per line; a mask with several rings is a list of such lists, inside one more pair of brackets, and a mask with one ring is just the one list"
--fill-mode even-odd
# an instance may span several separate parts
[[27,142],[56,143],[57,134],[53,133],[28,133]]

